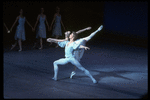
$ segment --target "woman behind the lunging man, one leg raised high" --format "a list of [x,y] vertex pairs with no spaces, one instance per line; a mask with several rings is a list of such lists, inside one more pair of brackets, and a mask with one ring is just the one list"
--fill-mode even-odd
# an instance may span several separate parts
[[[101,25],[98,30],[96,30],[95,32],[91,33],[89,36],[85,37],[85,38],[81,38],[81,39],[78,39],[76,40],[75,42],[77,44],[80,44],[80,45],[83,45],[85,46],[86,45],[86,42],[88,42],[98,31],[102,30],[103,28],[103,25]],[[66,34],[66,33],[65,33]],[[69,33],[66,35],[66,37],[69,35]],[[64,39],[64,40],[58,40],[58,39],[52,39],[52,38],[49,38],[47,39],[47,41],[57,41],[57,42],[63,42],[63,41],[67,41],[68,38]],[[75,55],[75,59],[78,60],[80,62],[80,59],[82,58],[83,56],[83,53],[84,53],[84,49],[77,49],[77,50],[74,50],[74,55]],[[75,75],[75,70],[76,70],[76,66],[74,67],[74,71],[72,71],[71,75],[70,75],[70,78],[73,77],[73,75]]]

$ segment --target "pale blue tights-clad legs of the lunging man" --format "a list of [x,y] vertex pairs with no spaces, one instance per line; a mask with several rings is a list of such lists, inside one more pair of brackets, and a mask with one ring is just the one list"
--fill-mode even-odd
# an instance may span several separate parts
[[54,65],[54,80],[57,80],[57,74],[58,74],[58,65],[65,65],[67,63],[71,63],[74,66],[76,66],[78,69],[83,71],[88,77],[90,77],[93,81],[93,83],[96,83],[97,81],[93,78],[93,76],[90,74],[90,72],[85,69],[75,58],[61,58],[59,60],[56,60],[53,65]]

